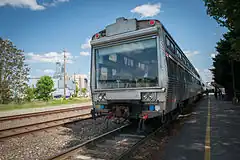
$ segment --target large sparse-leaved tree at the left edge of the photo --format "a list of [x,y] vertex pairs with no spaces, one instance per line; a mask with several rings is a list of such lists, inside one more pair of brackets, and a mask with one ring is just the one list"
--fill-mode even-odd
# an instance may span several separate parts
[[24,98],[29,68],[22,50],[0,38],[0,103],[19,102]]

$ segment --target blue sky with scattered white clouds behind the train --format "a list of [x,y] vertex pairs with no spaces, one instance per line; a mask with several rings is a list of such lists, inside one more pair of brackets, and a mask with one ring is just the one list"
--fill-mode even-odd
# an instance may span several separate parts
[[226,29],[202,0],[1,0],[0,36],[24,50],[32,77],[52,75],[63,48],[68,74],[88,74],[88,39],[117,17],[160,20],[203,79],[211,79],[211,56]]

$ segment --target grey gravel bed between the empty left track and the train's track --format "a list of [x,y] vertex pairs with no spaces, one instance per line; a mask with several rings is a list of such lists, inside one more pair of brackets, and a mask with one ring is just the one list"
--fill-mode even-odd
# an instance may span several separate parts
[[120,125],[109,123],[103,118],[79,121],[62,127],[33,134],[22,135],[0,141],[0,160],[47,159],[65,149],[82,143]]

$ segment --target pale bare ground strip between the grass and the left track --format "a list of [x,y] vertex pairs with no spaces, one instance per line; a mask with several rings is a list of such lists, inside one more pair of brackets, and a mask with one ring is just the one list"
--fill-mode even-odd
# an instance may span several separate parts
[[1,111],[0,117],[37,113],[37,112],[44,112],[44,111],[53,111],[53,110],[75,108],[75,107],[81,107],[81,106],[82,107],[83,106],[91,106],[91,105],[92,105],[92,102],[85,102],[85,103],[78,103],[78,104],[64,104],[64,105],[59,105],[59,106],[46,106],[46,107],[39,107],[39,108],[16,109],[16,110],[10,110],[10,111]]

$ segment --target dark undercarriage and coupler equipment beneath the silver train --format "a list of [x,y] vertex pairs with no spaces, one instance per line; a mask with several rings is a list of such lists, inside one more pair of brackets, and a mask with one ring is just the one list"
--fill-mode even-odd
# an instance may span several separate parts
[[[154,112],[154,111],[142,111],[144,105],[137,103],[112,103],[108,105],[106,109],[94,109],[94,113],[105,115],[107,120],[111,120],[114,123],[121,124],[125,122],[137,122],[138,131],[143,131],[145,123],[148,120],[159,121],[161,124],[168,123],[175,119],[178,115],[183,113],[184,108],[188,104],[195,103],[202,97],[199,94],[196,97],[189,98],[177,104],[177,107],[170,112]],[[147,105],[145,105],[146,107]]]

